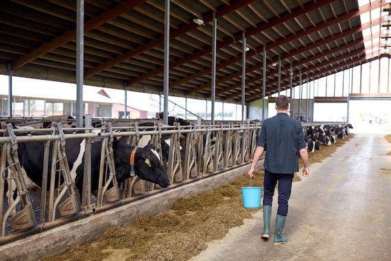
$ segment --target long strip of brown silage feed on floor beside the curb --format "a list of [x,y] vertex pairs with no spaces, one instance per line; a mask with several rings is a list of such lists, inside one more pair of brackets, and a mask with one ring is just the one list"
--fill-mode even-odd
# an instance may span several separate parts
[[[346,141],[338,139],[333,146],[322,146],[310,154],[310,163],[322,161]],[[294,181],[300,180],[295,174]],[[75,245],[63,256],[45,260],[189,260],[206,249],[207,242],[223,238],[228,229],[243,225],[244,218],[257,211],[243,207],[241,187],[249,183],[248,174],[244,174],[217,190],[180,198],[161,214],[106,229],[95,242]],[[253,186],[263,187],[263,170],[256,172]]]

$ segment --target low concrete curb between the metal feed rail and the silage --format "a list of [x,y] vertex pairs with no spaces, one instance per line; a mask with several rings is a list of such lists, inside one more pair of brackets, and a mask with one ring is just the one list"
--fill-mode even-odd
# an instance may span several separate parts
[[[263,168],[263,161],[257,170]],[[108,227],[119,227],[130,223],[138,216],[158,214],[169,209],[178,198],[189,198],[206,190],[226,185],[248,171],[250,164],[215,176],[180,186],[167,192],[134,201],[106,212],[93,214],[72,223],[43,231],[27,238],[10,242],[0,247],[1,260],[38,260],[44,256],[64,253],[67,247],[84,244],[97,238]]]

